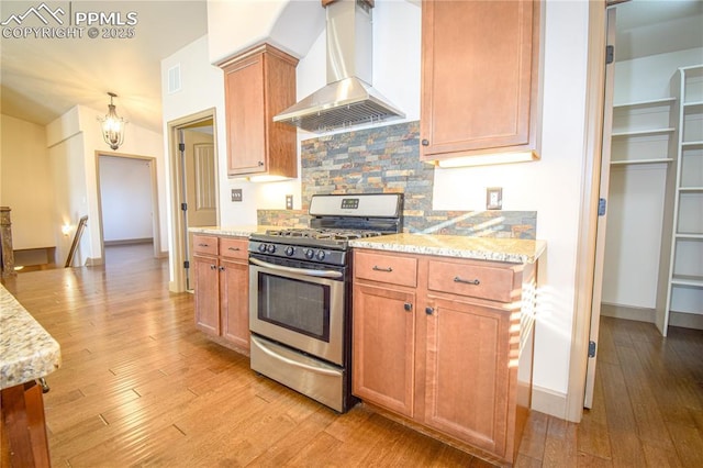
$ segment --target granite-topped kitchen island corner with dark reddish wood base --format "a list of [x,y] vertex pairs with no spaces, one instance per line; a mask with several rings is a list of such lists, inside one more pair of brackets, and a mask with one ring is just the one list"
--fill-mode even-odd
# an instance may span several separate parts
[[[11,466],[48,467],[42,387],[36,380],[60,366],[60,347],[0,285],[1,424]],[[5,450],[5,441],[2,442]]]

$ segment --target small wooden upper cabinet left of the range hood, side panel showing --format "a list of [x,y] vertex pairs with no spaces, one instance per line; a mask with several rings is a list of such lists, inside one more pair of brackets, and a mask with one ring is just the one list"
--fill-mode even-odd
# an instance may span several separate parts
[[295,103],[297,65],[297,58],[269,44],[220,64],[230,177],[298,177],[297,129],[274,122],[276,114]]

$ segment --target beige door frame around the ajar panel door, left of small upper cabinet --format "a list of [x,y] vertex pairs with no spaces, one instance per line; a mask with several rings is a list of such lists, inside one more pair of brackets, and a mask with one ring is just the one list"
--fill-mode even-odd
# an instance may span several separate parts
[[[213,130],[213,144],[215,151],[215,190],[220,193],[220,177],[219,177],[219,152],[217,152],[217,125],[215,108],[205,109],[203,111],[182,116],[169,121],[167,124],[168,135],[168,160],[169,160],[169,180],[170,180],[170,209],[171,209],[171,253],[170,253],[170,270],[171,280],[169,281],[168,289],[171,292],[183,292],[187,290],[186,269],[183,268],[183,261],[186,261],[186,244],[188,243],[188,236],[185,235],[187,229],[183,216],[181,215],[180,203],[183,199],[186,188],[183,187],[183,174],[180,165],[180,153],[178,149],[179,132],[193,126],[199,126],[202,122],[212,120]],[[215,218],[217,224],[220,224],[220,199],[215,199]]]

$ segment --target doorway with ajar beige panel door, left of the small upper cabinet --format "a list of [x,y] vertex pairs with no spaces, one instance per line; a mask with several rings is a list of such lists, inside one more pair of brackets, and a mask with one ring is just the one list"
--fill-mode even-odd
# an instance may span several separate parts
[[169,122],[172,245],[169,289],[192,290],[190,227],[219,224],[219,177],[214,109]]

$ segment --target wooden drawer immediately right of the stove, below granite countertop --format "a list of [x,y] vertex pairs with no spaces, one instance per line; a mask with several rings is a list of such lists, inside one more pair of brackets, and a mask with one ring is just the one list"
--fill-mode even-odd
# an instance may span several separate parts
[[417,286],[417,260],[410,257],[356,252],[354,277],[400,286]]

